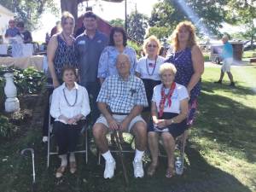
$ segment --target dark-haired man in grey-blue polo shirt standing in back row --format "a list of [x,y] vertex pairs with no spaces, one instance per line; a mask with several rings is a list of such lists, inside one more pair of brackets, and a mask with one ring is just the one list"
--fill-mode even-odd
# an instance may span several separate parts
[[88,90],[91,103],[91,117],[95,123],[100,112],[96,107],[96,97],[101,88],[97,79],[98,63],[108,38],[96,29],[96,15],[91,11],[84,14],[85,31],[76,38],[75,48],[79,60],[80,84]]

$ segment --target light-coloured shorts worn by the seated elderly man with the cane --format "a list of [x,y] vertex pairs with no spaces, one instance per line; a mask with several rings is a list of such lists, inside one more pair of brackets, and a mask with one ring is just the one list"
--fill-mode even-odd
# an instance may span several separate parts
[[[115,119],[117,122],[121,123],[125,119],[126,116],[127,115],[113,114],[113,119]],[[137,115],[135,118],[131,119],[131,122],[130,122],[130,124],[128,126],[128,130],[127,131],[131,132],[132,126],[135,125],[139,121],[142,121],[142,122],[144,122],[146,124],[146,122],[142,118],[142,116],[141,115]],[[96,124],[103,124],[103,125],[105,125],[105,126],[107,126],[109,128],[107,119],[104,116],[102,116],[102,115],[96,120]]]

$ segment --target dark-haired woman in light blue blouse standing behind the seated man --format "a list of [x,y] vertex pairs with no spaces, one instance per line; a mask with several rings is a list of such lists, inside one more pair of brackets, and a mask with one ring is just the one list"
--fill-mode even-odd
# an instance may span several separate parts
[[114,26],[109,35],[109,44],[102,51],[99,61],[98,78],[101,80],[101,83],[108,76],[118,74],[115,64],[119,54],[128,55],[131,62],[130,73],[134,74],[135,67],[137,66],[136,51],[127,46],[127,34],[125,30],[122,27]]

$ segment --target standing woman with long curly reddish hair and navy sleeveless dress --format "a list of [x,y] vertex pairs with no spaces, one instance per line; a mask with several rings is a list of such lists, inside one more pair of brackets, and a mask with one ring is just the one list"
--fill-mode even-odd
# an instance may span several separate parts
[[166,62],[177,68],[175,82],[185,86],[189,93],[187,125],[195,119],[197,97],[201,92],[201,75],[204,72],[204,57],[195,42],[195,26],[189,21],[180,22],[172,33],[172,51]]

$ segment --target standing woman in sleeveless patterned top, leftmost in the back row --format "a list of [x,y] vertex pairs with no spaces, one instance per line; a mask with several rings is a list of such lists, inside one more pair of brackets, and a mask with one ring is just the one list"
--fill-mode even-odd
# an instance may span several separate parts
[[[63,12],[61,16],[62,32],[50,38],[47,46],[47,61],[50,73],[49,83],[53,84],[54,89],[62,83],[61,70],[64,66],[77,68],[77,58],[74,49],[74,18],[69,12]],[[49,91],[49,95],[53,90]],[[47,142],[48,136],[48,113],[49,105],[44,113],[43,142]]]

